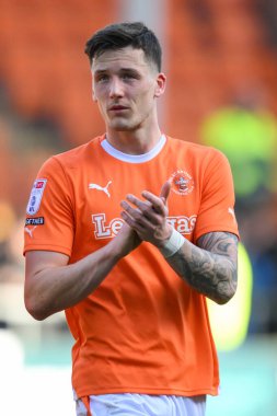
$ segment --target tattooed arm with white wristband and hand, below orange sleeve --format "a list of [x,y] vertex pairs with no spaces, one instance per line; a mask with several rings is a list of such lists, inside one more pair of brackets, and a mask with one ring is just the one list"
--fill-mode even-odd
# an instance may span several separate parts
[[141,241],[155,245],[171,267],[189,286],[215,300],[228,302],[236,289],[238,236],[223,231],[201,235],[192,244],[166,221],[171,184],[165,182],[160,197],[142,192],[146,200],[127,195],[122,217]]

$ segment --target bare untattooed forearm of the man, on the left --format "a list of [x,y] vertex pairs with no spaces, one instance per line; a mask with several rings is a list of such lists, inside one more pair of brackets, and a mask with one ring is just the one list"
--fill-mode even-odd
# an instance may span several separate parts
[[109,243],[74,264],[42,267],[30,284],[26,279],[28,312],[35,319],[44,320],[77,304],[99,287],[119,257]]

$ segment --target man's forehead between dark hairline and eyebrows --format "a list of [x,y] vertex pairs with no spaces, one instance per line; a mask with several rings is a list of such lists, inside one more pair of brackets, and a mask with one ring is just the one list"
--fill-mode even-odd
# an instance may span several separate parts
[[127,46],[122,49],[106,50],[92,61],[92,72],[105,70],[149,69],[151,63],[146,59],[142,49],[135,49]]

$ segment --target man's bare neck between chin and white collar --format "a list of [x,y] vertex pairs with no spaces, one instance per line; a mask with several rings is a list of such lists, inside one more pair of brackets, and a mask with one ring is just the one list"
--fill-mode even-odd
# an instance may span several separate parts
[[151,130],[114,131],[107,128],[106,139],[115,149],[127,154],[143,154],[155,147],[161,139],[161,130],[157,126]]

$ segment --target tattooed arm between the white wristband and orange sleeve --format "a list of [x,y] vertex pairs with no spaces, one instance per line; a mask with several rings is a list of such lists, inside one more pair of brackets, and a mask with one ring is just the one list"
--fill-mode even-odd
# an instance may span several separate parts
[[210,232],[197,241],[185,241],[173,256],[171,267],[189,286],[215,300],[228,302],[235,293],[238,274],[238,238],[229,232]]

